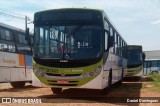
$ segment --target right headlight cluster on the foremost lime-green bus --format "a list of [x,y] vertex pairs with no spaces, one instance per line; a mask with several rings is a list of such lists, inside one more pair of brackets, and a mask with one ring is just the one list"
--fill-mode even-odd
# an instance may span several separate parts
[[99,67],[96,68],[95,70],[83,74],[83,77],[84,77],[84,78],[88,78],[88,77],[92,77],[92,76],[98,75],[98,74],[101,72],[101,69],[102,69],[101,66],[99,66]]

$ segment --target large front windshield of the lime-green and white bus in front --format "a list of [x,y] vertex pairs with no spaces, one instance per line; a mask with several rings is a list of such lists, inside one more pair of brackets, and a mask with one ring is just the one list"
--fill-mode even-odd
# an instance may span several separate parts
[[101,53],[98,25],[35,27],[34,56],[57,59],[93,59]]

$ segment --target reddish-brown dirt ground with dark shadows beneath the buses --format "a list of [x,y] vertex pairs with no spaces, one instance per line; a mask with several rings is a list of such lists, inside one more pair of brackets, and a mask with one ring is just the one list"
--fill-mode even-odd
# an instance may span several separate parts
[[[139,97],[160,97],[160,92],[156,92],[154,86],[150,83],[151,79],[144,76],[139,81],[124,81],[122,86],[113,85],[108,94],[100,95],[98,90],[86,89],[65,89],[62,94],[53,94],[50,88],[38,88],[32,85],[26,85],[25,88],[15,89],[10,85],[0,85],[0,97],[34,98],[42,99],[39,104],[45,106],[159,106],[160,103],[127,103],[127,99],[138,99]],[[145,98],[146,99],[146,98]],[[153,99],[153,98],[151,98]],[[157,99],[157,98],[155,98]],[[160,102],[160,98],[159,102]],[[120,101],[124,101],[120,103]],[[126,103],[125,103],[126,102]],[[28,104],[6,104],[0,106],[19,106]]]

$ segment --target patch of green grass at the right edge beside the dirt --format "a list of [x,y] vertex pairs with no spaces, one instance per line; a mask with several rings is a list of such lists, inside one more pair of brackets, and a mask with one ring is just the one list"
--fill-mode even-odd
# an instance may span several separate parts
[[160,74],[150,74],[149,77],[153,80],[151,84],[155,86],[155,90],[160,92]]

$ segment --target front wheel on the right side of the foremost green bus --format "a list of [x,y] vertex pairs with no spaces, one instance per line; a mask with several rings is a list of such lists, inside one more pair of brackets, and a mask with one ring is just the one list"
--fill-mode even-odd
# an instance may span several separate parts
[[106,88],[102,89],[100,94],[101,95],[107,94],[109,92],[109,90],[111,89],[111,85],[112,85],[112,70],[110,70],[110,72],[109,72],[108,86]]

